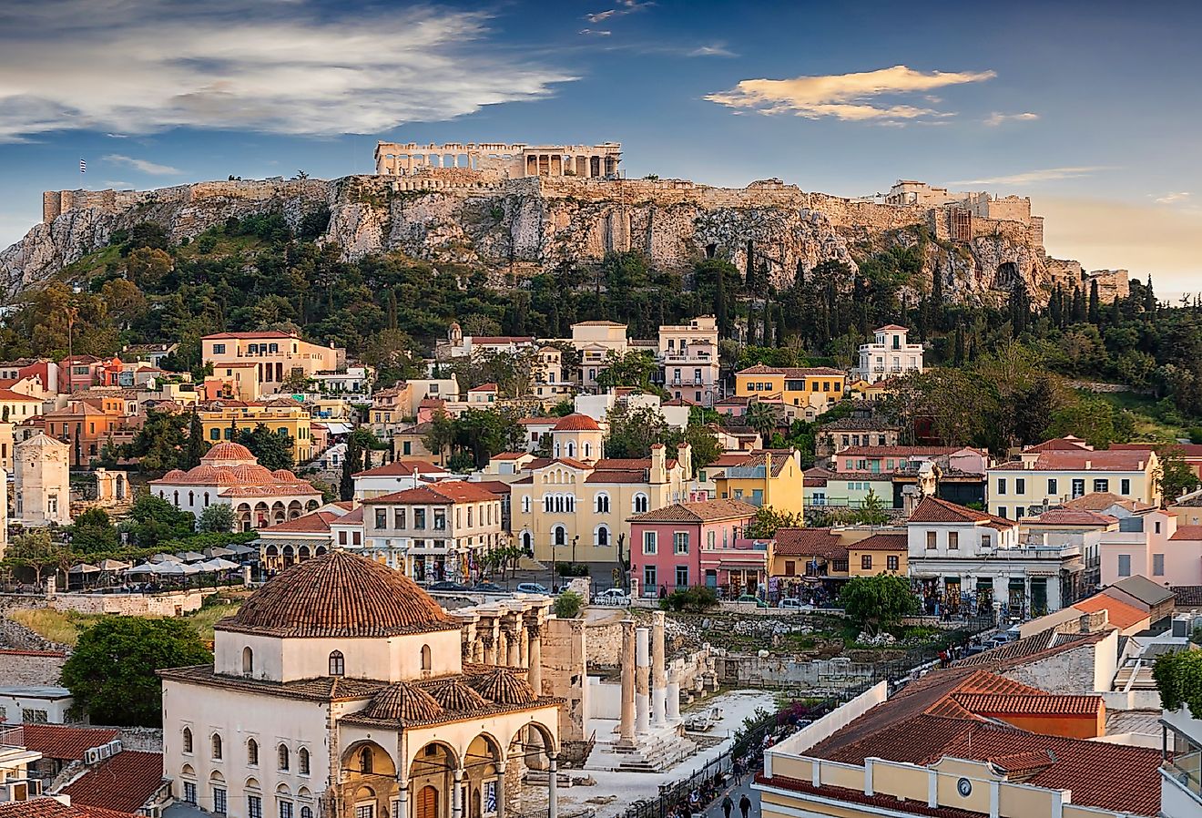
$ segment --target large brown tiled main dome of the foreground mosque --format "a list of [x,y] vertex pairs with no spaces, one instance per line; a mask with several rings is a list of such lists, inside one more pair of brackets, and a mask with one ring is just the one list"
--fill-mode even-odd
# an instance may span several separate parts
[[395,636],[458,627],[407,576],[346,551],[285,570],[216,624],[268,636]]

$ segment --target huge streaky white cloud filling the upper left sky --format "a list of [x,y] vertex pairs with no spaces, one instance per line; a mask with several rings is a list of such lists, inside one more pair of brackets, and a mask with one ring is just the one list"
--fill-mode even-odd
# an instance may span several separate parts
[[65,129],[375,134],[551,96],[575,77],[487,42],[488,17],[317,0],[0,4],[0,142]]

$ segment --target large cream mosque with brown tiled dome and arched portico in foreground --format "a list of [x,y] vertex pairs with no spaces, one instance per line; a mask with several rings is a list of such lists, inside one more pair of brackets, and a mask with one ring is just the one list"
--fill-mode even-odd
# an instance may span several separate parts
[[364,557],[303,562],[218,622],[212,666],[160,671],[163,778],[232,818],[505,818],[542,769],[555,818],[548,604],[486,626]]

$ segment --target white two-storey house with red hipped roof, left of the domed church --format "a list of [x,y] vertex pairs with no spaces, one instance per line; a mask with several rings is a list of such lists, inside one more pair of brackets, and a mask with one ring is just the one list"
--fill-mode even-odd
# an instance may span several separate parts
[[478,580],[481,555],[501,544],[501,498],[445,480],[363,500],[361,553],[417,581]]

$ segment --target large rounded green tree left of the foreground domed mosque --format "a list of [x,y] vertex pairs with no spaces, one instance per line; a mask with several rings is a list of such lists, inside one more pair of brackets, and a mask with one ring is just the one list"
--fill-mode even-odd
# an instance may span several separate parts
[[160,727],[162,684],[155,671],[212,662],[184,620],[107,616],[79,635],[63,665],[63,683],[73,707],[94,723]]

